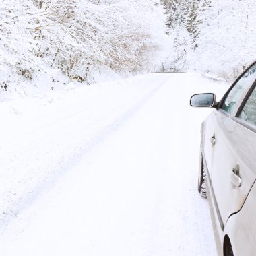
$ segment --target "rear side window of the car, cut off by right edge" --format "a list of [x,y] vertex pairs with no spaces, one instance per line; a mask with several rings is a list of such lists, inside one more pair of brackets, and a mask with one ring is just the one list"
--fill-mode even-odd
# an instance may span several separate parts
[[256,125],[256,88],[254,88],[253,92],[249,96],[238,117],[248,123]]

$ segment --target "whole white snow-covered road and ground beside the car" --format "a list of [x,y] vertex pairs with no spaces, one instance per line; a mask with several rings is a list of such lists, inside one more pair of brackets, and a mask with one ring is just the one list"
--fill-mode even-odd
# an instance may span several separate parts
[[216,255],[197,194],[197,92],[153,73],[2,102],[1,255]]

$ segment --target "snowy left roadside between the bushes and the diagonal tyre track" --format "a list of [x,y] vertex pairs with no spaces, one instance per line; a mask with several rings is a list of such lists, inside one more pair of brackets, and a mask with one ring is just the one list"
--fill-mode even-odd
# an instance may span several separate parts
[[150,79],[137,79],[143,90],[131,78],[127,90],[127,82],[116,82],[3,104],[7,106],[1,108],[1,221],[15,218],[167,77],[155,77],[145,86]]

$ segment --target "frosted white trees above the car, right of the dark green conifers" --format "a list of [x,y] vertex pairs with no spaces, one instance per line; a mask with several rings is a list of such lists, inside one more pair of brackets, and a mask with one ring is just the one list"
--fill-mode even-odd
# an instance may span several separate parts
[[255,59],[255,8],[254,0],[212,1],[202,13],[197,68],[234,79]]

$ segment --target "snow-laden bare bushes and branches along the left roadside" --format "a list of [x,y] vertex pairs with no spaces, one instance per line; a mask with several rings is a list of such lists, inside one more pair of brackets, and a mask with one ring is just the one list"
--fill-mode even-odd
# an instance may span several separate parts
[[150,71],[164,36],[158,0],[1,0],[0,13],[2,81]]

